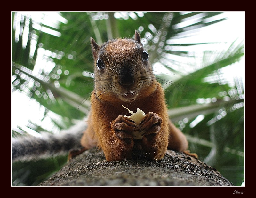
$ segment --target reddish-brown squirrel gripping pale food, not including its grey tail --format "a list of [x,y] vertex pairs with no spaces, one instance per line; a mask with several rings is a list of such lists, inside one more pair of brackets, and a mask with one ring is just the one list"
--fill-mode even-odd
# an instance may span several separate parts
[[[103,150],[107,161],[129,159],[160,160],[167,148],[190,156],[184,134],[169,120],[164,91],[148,61],[148,53],[135,38],[118,38],[98,45],[91,37],[95,85],[91,95],[88,126],[81,139],[81,151],[92,147]],[[137,108],[146,116],[139,125],[124,117]],[[134,139],[133,131],[143,135]]]

